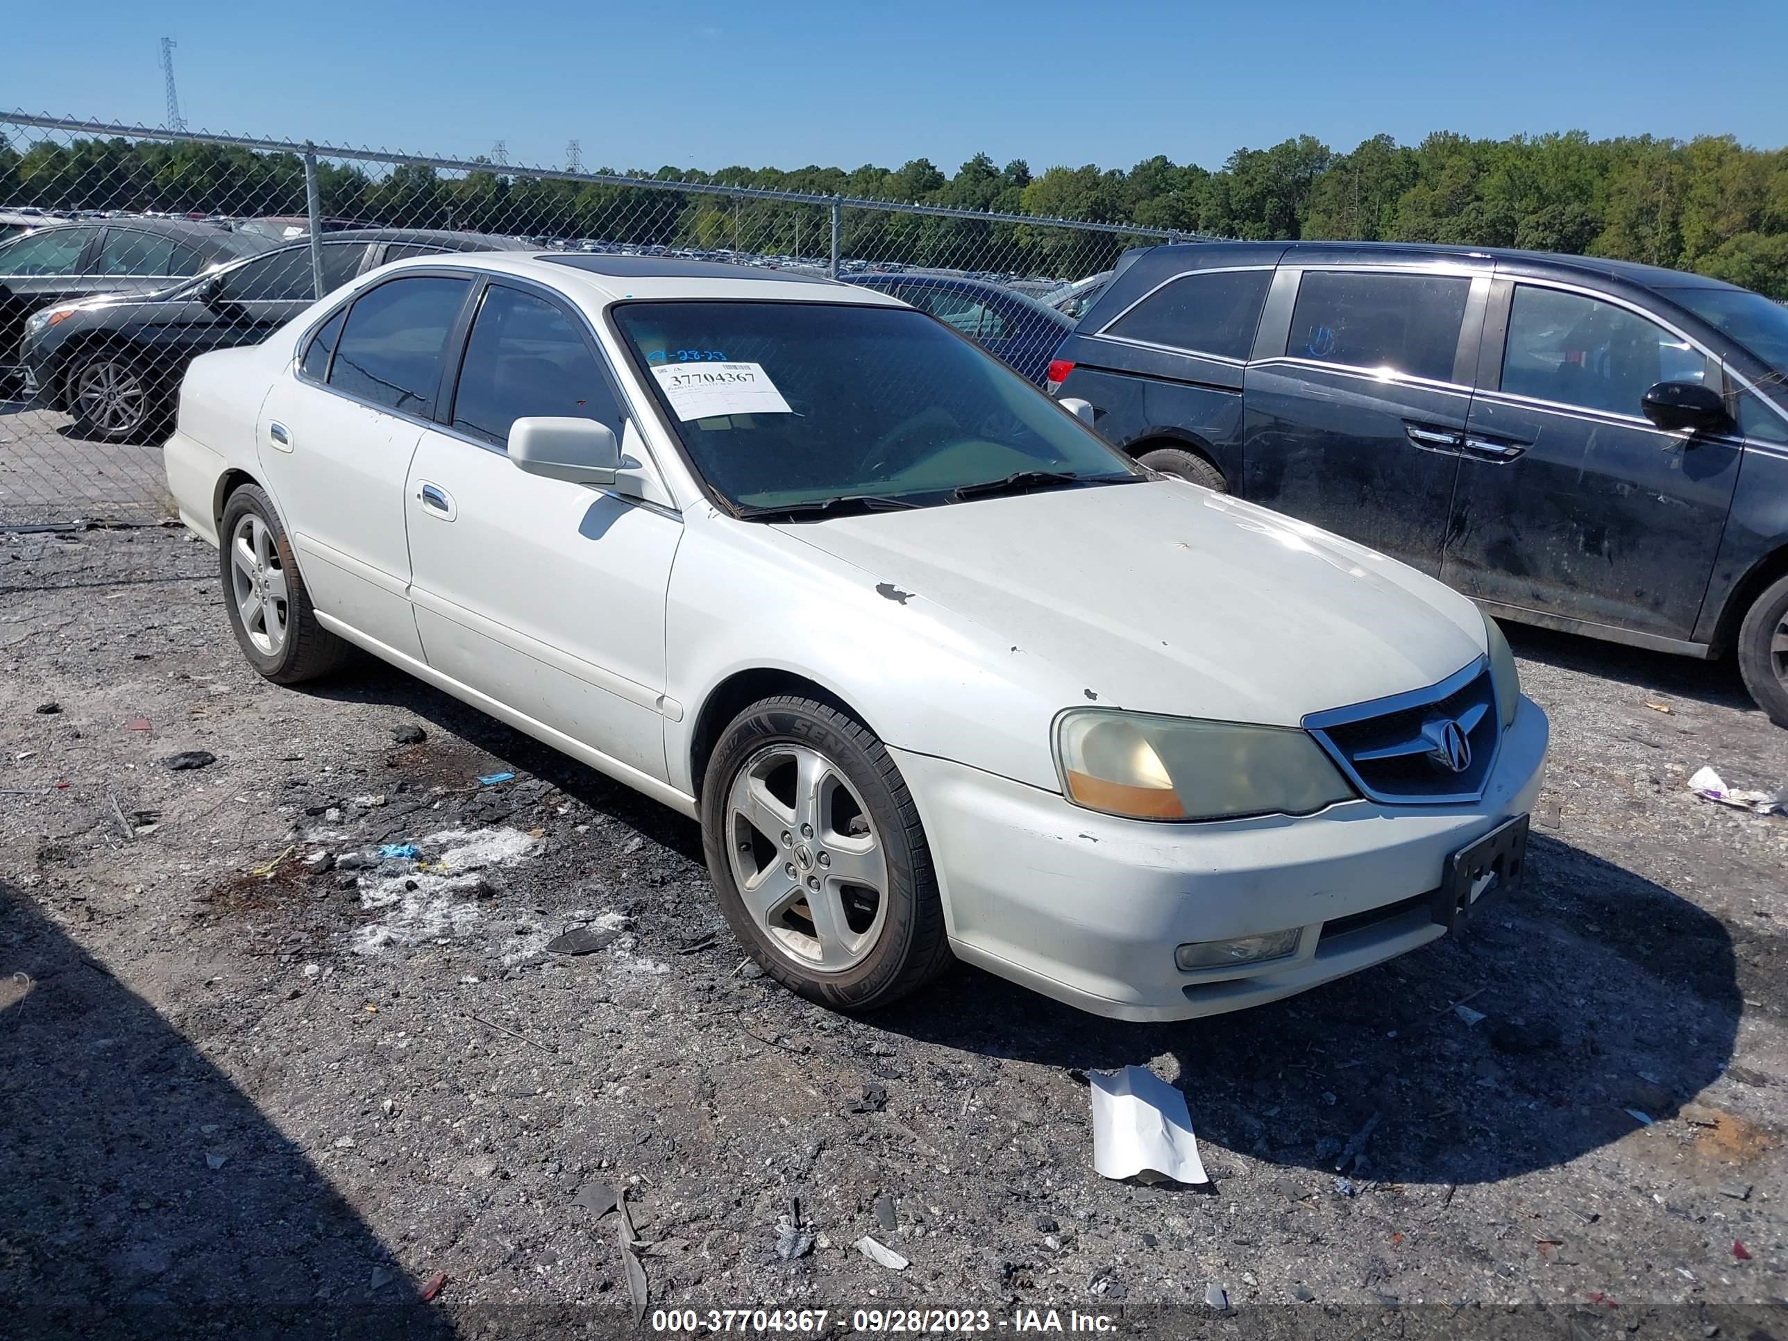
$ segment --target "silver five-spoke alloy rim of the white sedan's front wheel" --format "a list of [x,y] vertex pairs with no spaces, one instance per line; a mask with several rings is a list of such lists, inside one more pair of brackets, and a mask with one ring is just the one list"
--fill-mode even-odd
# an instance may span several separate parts
[[772,744],[733,776],[733,883],[772,946],[806,969],[864,962],[887,921],[889,867],[869,808],[817,749]]

